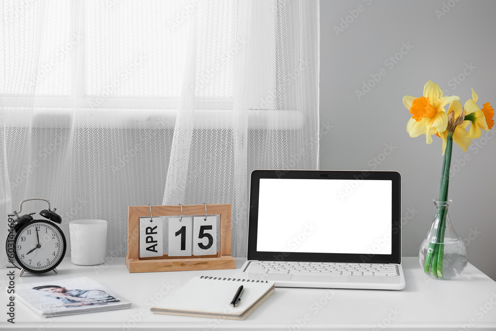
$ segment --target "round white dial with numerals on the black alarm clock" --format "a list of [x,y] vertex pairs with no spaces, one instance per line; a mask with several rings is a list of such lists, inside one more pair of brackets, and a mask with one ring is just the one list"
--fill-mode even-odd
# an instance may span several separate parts
[[62,262],[65,247],[65,237],[55,223],[33,220],[16,233],[14,257],[27,271],[47,272]]

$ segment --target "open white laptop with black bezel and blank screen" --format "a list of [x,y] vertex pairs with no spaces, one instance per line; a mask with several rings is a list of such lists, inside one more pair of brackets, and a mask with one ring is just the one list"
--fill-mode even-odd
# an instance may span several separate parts
[[400,174],[253,171],[247,257],[278,287],[403,289]]

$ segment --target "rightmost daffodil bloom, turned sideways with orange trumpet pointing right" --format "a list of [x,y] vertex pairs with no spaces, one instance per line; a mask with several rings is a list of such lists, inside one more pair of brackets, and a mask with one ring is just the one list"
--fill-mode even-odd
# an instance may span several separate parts
[[[494,125],[494,110],[491,104],[488,102],[484,105],[483,109],[477,106],[476,102],[479,96],[472,89],[472,99],[468,99],[465,102],[463,109],[465,110],[465,120],[472,123],[470,126],[470,131],[468,132],[468,137],[471,139],[479,138],[481,136],[481,129],[489,131]],[[489,125],[491,124],[491,128]]]

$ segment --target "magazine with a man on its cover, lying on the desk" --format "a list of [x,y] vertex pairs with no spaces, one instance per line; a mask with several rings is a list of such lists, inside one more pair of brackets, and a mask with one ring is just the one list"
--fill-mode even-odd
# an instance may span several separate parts
[[42,317],[131,307],[130,301],[88,277],[20,284],[16,298]]

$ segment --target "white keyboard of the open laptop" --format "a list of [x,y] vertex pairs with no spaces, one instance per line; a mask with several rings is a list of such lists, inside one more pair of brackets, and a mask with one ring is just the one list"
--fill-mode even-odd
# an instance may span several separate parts
[[251,261],[245,272],[292,273],[342,276],[398,276],[398,267],[389,264]]

